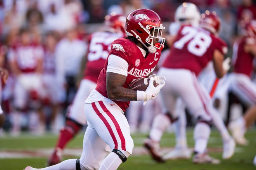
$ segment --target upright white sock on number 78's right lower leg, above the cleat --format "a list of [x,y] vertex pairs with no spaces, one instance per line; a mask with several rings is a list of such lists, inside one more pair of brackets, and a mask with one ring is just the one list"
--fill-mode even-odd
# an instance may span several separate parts
[[207,148],[208,139],[211,133],[211,128],[208,124],[198,122],[194,128],[194,151],[197,153],[204,153]]

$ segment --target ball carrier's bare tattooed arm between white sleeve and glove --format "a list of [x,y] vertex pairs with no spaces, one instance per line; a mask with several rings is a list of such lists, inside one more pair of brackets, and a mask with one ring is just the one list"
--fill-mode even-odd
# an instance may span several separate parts
[[111,100],[132,101],[137,100],[137,91],[122,87],[126,76],[118,73],[106,73],[107,95]]

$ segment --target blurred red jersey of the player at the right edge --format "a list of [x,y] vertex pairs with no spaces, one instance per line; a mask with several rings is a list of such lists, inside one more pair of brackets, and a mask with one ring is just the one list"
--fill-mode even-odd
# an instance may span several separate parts
[[232,56],[232,64],[234,64],[233,72],[251,76],[254,56],[244,51],[246,44],[256,44],[256,40],[251,37],[242,37],[234,43]]

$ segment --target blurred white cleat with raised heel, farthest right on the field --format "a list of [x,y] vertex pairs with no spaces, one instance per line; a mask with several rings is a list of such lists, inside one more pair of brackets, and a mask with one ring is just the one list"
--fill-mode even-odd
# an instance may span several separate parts
[[248,145],[249,142],[244,137],[246,129],[241,123],[241,120],[230,122],[228,125],[228,129],[231,131],[231,134],[238,145],[242,145],[242,146]]

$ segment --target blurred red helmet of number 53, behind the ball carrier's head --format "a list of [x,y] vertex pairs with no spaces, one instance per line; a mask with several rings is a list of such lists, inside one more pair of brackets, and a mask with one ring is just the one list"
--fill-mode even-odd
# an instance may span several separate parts
[[124,15],[111,12],[105,16],[104,24],[108,31],[125,34],[125,21]]

